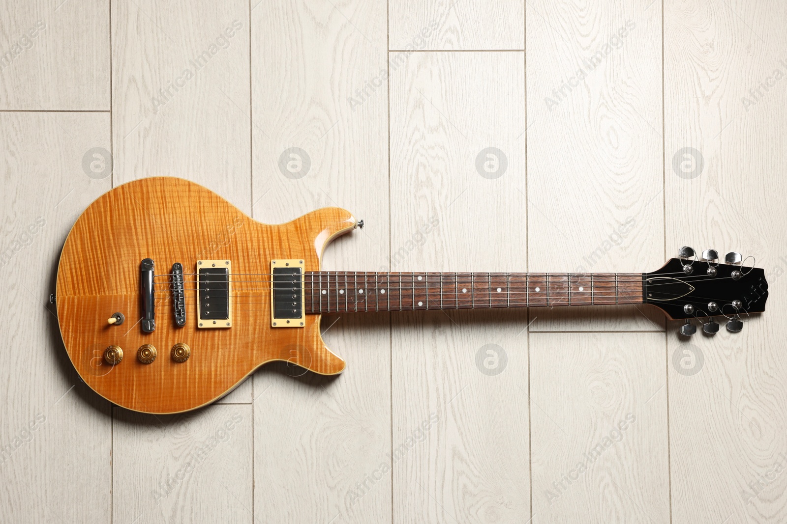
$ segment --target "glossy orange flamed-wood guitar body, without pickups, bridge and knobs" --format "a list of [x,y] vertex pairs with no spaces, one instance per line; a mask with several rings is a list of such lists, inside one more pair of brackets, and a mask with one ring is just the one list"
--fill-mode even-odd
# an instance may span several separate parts
[[[68,357],[85,383],[116,405],[139,412],[175,413],[224,396],[266,362],[288,361],[333,375],[345,362],[320,336],[320,315],[302,328],[273,328],[269,286],[271,260],[301,259],[318,271],[323,249],[357,225],[348,211],[324,208],[281,225],[257,222],[216,193],[180,178],[142,178],[112,189],[79,217],[57,270],[57,317]],[[140,262],[155,273],[183,264],[187,321],[176,325],[168,280],[156,281],[156,327],[143,332]],[[233,274],[253,284],[232,291],[231,328],[198,328],[194,310],[195,263],[231,261]],[[240,277],[238,277],[240,278]],[[268,288],[269,291],[269,288]],[[256,297],[256,299],[255,299]],[[114,312],[122,324],[108,324]],[[190,357],[175,361],[172,346],[186,343]],[[137,350],[157,350],[153,364]],[[122,364],[108,365],[105,349],[119,346]]]

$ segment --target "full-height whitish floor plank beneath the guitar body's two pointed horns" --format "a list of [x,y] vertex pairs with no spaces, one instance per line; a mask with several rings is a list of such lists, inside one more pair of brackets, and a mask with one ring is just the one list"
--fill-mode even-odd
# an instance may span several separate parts
[[[323,269],[375,269],[389,240],[386,4],[253,2],[251,13],[253,217],[344,207],[364,229],[334,242]],[[279,167],[294,147],[308,170]],[[348,363],[337,379],[297,379],[280,365],[254,377],[255,434],[264,435],[255,512],[260,522],[386,522],[390,474],[362,499],[353,492],[390,451],[388,316],[332,315],[322,329]]]

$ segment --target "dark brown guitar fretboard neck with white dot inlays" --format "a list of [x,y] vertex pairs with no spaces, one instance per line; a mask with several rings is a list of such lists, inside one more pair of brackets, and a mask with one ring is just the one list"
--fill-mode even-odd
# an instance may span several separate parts
[[306,313],[641,304],[642,273],[305,273]]

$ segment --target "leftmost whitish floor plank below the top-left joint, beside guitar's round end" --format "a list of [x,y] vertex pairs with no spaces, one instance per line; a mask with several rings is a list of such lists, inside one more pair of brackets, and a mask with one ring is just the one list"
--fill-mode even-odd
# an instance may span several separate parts
[[48,301],[68,229],[109,189],[81,166],[109,148],[109,115],[2,112],[0,144],[0,521],[109,522],[109,402],[79,382]]

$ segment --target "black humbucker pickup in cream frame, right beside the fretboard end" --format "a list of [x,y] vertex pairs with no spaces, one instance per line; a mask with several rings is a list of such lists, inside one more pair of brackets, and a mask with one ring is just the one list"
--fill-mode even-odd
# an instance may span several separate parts
[[271,326],[302,328],[305,322],[302,260],[271,261]]

